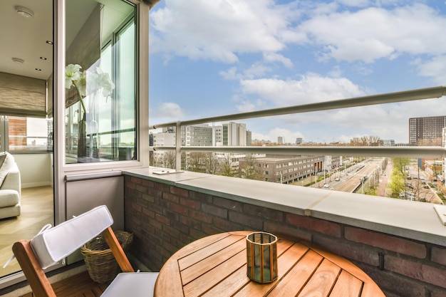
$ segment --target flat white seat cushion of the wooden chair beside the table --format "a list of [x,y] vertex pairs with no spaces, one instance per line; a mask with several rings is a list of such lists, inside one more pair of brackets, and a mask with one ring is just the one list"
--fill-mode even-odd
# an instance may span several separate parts
[[158,272],[119,273],[100,297],[153,296],[158,274]]

